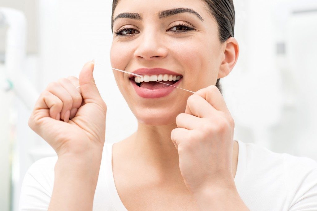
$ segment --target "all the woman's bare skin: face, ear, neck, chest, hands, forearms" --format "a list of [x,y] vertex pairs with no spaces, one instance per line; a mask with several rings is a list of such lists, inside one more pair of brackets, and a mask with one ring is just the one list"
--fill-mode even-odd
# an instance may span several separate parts
[[[157,12],[177,7],[197,11],[204,22],[189,13],[158,19]],[[114,31],[125,26],[140,33],[113,36],[112,67],[171,69],[183,75],[180,87],[196,92],[175,89],[163,98],[143,99],[127,74],[114,72],[138,119],[138,130],[113,145],[113,176],[121,201],[128,210],[248,210],[234,184],[234,121],[214,86],[236,64],[238,43],[232,37],[219,42],[217,23],[202,1],[121,0],[114,16],[121,12],[141,13],[143,20],[114,23]],[[182,22],[195,30],[168,30]],[[107,113],[93,70],[87,62],[79,78],[50,83],[29,118],[29,127],[58,155],[49,210],[93,207]]]

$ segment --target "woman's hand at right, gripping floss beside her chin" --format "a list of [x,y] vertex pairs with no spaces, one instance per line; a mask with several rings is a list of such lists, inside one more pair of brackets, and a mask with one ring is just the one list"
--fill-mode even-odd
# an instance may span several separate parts
[[206,188],[231,190],[234,120],[217,86],[198,90],[176,117],[171,140],[178,149],[179,168],[194,194]]

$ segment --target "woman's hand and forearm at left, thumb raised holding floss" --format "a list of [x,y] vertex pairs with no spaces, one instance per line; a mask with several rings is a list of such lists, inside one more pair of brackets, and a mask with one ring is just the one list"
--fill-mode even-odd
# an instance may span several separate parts
[[[29,127],[56,151],[49,210],[92,210],[105,141],[107,105],[87,62],[79,79],[51,82],[41,93]],[[80,85],[80,89],[77,89]],[[38,197],[38,196],[35,196]]]

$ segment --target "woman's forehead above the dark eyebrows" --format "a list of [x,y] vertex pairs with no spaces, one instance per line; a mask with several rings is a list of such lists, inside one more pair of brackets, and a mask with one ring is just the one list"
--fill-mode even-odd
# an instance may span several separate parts
[[210,18],[206,4],[203,0],[119,0],[113,11],[113,18],[120,13],[129,12],[139,13],[141,18],[155,16],[160,19],[162,11],[175,8],[188,8],[197,12],[202,19]]

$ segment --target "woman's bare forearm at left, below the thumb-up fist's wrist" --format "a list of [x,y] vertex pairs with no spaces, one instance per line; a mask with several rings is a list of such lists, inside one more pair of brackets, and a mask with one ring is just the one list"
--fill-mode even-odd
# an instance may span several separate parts
[[92,210],[101,153],[58,157],[49,211]]

